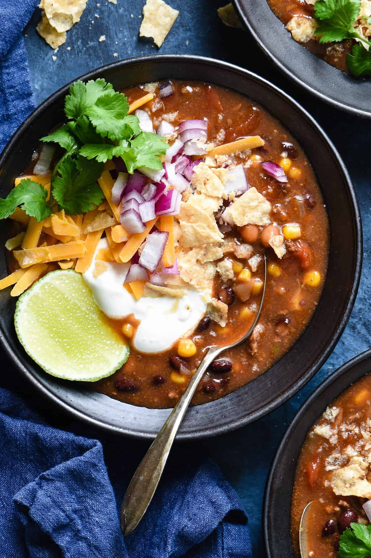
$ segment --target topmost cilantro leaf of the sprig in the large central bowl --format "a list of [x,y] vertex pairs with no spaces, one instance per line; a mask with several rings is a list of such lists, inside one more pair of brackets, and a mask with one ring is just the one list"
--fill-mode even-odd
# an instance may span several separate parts
[[66,117],[77,120],[86,114],[86,110],[92,107],[101,95],[113,93],[112,84],[106,83],[104,79],[90,80],[86,84],[81,80],[75,81],[70,87],[70,94],[66,95]]

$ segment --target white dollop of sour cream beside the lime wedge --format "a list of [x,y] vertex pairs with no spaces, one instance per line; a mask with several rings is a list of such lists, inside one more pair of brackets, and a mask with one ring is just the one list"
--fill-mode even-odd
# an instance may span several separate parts
[[141,353],[160,353],[196,328],[206,312],[203,291],[189,287],[180,299],[161,295],[157,298],[142,296],[136,300],[123,286],[128,263],[104,262],[107,270],[94,277],[96,255],[102,248],[108,248],[106,238],[100,240],[91,266],[82,277],[106,316],[123,319],[134,314],[134,318],[140,320],[133,339],[135,349]]

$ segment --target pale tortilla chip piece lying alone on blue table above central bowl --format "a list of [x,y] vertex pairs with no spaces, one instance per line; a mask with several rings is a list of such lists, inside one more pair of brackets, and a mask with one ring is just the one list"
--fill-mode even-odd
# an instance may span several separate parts
[[147,0],[143,7],[144,17],[139,36],[152,37],[155,44],[160,47],[178,15],[178,10],[168,6],[163,0]]

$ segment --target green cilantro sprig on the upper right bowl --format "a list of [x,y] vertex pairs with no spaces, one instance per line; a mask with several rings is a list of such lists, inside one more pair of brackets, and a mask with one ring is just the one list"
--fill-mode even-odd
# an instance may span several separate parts
[[[371,42],[354,27],[360,14],[360,0],[318,0],[314,15],[318,23],[315,34],[321,43],[357,39],[352,54],[346,55],[346,64],[353,75],[371,75]],[[365,18],[366,20],[369,18]]]

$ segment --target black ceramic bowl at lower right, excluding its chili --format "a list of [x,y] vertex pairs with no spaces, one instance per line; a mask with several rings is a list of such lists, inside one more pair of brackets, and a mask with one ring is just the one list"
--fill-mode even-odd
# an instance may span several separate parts
[[280,443],[267,479],[263,532],[268,558],[294,558],[290,535],[291,495],[296,462],[307,432],[350,384],[371,371],[371,350],[349,360],[316,388],[296,413]]

